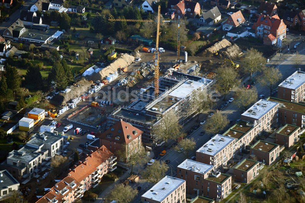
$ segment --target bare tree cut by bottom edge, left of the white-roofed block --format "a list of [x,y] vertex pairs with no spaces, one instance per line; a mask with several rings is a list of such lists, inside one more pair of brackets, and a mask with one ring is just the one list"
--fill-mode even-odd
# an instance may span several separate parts
[[137,196],[137,194],[137,189],[131,187],[130,185],[125,186],[123,183],[120,183],[115,185],[110,191],[105,202],[115,200],[118,203],[129,203]]

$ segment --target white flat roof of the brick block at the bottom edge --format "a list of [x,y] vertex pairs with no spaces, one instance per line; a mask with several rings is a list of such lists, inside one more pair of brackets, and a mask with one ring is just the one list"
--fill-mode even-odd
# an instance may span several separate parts
[[185,180],[179,178],[165,176],[157,184],[145,192],[142,197],[155,201],[163,201],[164,198],[175,191],[184,182]]

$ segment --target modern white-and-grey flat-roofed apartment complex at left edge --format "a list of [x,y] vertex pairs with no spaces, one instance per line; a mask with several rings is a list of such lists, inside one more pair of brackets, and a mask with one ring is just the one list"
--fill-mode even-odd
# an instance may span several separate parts
[[25,184],[39,172],[47,169],[50,160],[63,152],[63,137],[50,132],[36,133],[19,150],[9,153],[0,164],[18,181]]

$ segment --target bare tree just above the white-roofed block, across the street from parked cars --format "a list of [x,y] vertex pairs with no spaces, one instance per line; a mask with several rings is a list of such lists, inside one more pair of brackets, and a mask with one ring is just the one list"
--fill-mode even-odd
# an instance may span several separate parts
[[255,87],[246,89],[243,87],[235,91],[234,103],[243,111],[246,111],[250,105],[257,101],[257,90]]

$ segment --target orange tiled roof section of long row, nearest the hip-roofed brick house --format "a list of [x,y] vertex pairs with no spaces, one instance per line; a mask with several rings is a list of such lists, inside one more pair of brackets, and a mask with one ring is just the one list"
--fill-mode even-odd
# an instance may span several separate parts
[[91,173],[93,173],[96,170],[96,167],[101,165],[111,156],[113,156],[113,153],[103,145],[98,150],[90,154],[84,162],[69,172],[69,175],[76,181],[81,182]]

